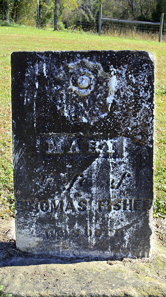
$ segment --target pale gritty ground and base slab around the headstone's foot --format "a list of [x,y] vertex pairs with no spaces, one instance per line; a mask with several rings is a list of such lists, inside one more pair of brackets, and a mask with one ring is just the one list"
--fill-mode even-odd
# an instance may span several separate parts
[[[162,220],[154,223],[160,226]],[[164,223],[163,220],[163,226]],[[84,258],[67,262],[18,252],[12,239],[11,222],[5,224],[1,228],[3,244],[12,246],[6,246],[8,256],[0,263],[0,285],[4,294],[11,293],[12,297],[166,297],[166,248],[159,240],[153,241],[150,258],[121,261]],[[157,238],[159,227],[156,228]],[[2,237],[0,240],[2,244]]]

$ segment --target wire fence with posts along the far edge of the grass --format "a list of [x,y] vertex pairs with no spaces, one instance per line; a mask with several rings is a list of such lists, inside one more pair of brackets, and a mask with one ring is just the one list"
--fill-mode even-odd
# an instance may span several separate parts
[[[0,4],[0,25],[18,24],[31,27],[37,27],[37,7],[27,9],[26,14],[23,9],[20,14],[17,13],[17,5],[12,7]],[[14,13],[13,13],[14,12]],[[11,15],[13,13],[13,15]],[[15,17],[15,21],[12,20]],[[54,11],[53,8],[45,7],[40,14],[40,28],[54,28]],[[103,16],[104,18],[104,16]],[[99,33],[99,17],[93,22],[78,21],[78,18],[72,20],[72,25],[68,26],[66,20],[62,18],[59,30],[83,31],[89,33]],[[114,21],[102,21],[101,34],[118,37],[131,37],[139,39],[149,39],[158,41],[159,25],[118,23]],[[162,42],[166,42],[166,23],[163,24]]]

